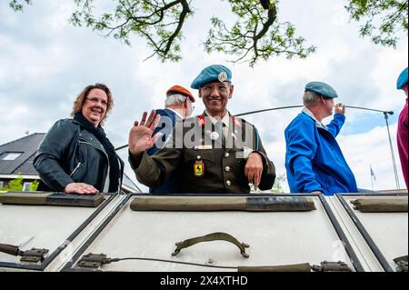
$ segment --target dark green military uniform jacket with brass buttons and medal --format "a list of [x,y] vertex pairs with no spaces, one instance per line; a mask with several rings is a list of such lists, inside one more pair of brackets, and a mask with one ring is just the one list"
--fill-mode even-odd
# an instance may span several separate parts
[[[247,161],[244,155],[254,150],[263,156],[264,163],[259,188],[271,189],[275,167],[265,153],[256,128],[231,115],[229,124],[225,138],[222,140],[220,132],[216,134],[219,138],[214,140],[214,125],[205,114],[176,123],[172,138],[155,155],[129,156],[137,180],[155,187],[176,171],[184,176],[181,193],[247,194],[250,187],[244,175]],[[197,168],[202,163],[204,166]]]

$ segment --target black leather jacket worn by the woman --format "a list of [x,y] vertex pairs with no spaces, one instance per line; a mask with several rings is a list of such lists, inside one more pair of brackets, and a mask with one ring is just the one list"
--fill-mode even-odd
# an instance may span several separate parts
[[[124,162],[120,163],[121,180]],[[70,183],[85,183],[103,191],[108,172],[108,155],[95,135],[73,119],[59,120],[38,148],[34,166],[44,185],[38,190],[64,192]],[[119,190],[120,188],[118,188]]]

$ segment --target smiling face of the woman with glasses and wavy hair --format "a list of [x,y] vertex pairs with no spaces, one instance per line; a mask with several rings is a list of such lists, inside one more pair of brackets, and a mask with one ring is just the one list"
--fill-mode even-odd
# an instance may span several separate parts
[[96,127],[104,119],[107,104],[108,96],[105,94],[105,91],[94,88],[89,91],[89,94],[85,97],[81,112],[85,118]]

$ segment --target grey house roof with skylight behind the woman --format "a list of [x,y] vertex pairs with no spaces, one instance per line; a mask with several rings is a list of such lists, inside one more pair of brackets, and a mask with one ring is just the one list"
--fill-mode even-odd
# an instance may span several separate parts
[[[15,141],[0,145],[0,175],[38,175],[33,166],[38,145],[45,133],[26,135]],[[15,160],[3,160],[7,153],[21,153]]]

